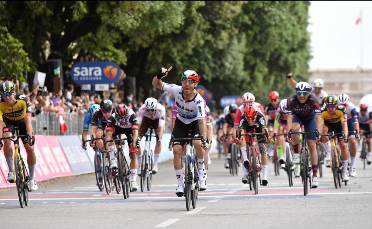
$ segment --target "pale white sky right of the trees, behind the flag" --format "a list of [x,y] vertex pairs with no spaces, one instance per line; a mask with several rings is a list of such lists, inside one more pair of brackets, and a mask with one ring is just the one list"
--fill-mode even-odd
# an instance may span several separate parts
[[309,16],[310,69],[372,69],[372,1],[311,1]]

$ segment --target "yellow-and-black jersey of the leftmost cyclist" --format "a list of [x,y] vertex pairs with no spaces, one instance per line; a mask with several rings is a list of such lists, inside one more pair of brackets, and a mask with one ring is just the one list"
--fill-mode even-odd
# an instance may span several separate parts
[[0,120],[3,117],[10,121],[19,121],[27,116],[31,116],[30,99],[25,94],[16,94],[16,102],[10,106],[3,98],[0,100]]

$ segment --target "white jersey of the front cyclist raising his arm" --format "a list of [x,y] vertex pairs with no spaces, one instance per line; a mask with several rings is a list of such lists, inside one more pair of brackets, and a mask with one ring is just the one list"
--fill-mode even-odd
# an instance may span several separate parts
[[182,94],[182,86],[163,82],[161,89],[170,92],[174,96],[177,106],[177,118],[181,122],[190,124],[195,120],[205,119],[204,99],[198,92],[196,92],[196,96],[193,99],[185,101]]

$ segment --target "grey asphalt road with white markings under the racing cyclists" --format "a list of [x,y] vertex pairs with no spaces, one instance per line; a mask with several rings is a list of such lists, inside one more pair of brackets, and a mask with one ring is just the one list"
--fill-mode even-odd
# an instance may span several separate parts
[[300,178],[289,187],[285,171],[276,177],[271,163],[269,184],[257,195],[241,183],[241,168],[231,176],[223,163],[212,158],[208,189],[191,211],[185,197],[174,194],[172,163],[160,164],[150,192],[132,192],[126,200],[99,192],[94,174],[39,182],[23,209],[15,188],[1,189],[0,228],[372,228],[372,165],[363,170],[357,160],[357,176],[339,189],[324,169],[320,186],[304,196]]

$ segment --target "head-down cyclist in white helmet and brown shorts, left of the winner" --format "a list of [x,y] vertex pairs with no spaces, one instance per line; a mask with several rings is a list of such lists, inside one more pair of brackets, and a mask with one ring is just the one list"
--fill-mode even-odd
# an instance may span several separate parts
[[[161,138],[165,126],[165,107],[158,103],[155,98],[147,98],[145,104],[138,110],[138,125],[140,134],[146,134],[149,127],[153,127],[157,135],[157,144],[155,145],[153,174],[158,172],[158,159],[161,152]],[[141,139],[140,139],[141,141]],[[141,151],[140,151],[141,152]],[[142,157],[138,154],[138,168],[141,167]],[[140,170],[141,171],[141,170]]]

